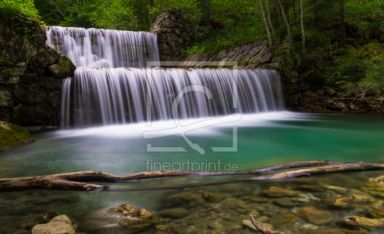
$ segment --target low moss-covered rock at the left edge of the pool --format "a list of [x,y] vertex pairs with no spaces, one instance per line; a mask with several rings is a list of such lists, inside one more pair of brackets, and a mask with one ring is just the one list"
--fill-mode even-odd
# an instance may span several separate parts
[[0,150],[32,141],[25,128],[0,121]]

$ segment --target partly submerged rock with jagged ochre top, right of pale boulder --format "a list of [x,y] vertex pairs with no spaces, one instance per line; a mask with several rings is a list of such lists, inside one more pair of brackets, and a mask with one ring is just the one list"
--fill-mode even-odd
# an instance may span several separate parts
[[157,217],[151,212],[145,209],[137,211],[131,204],[93,211],[78,219],[80,221],[79,230],[94,233],[130,234],[158,222]]

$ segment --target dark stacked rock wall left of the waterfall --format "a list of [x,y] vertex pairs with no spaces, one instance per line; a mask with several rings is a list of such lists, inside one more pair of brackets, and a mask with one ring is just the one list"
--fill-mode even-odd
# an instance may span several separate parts
[[7,60],[0,67],[0,120],[58,125],[60,79],[72,76],[76,67],[45,43],[46,33],[37,23],[31,38],[9,23],[0,21],[0,26],[0,56]]

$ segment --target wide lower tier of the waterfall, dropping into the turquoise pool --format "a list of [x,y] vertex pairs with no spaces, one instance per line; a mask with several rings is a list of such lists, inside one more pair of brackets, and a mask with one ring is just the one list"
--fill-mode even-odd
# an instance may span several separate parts
[[[187,93],[179,104],[180,119],[283,110],[279,75],[268,69],[237,70],[238,108],[232,108],[232,72],[230,69],[151,69],[152,119],[173,118],[172,102],[188,85],[208,87],[212,99],[201,92]],[[138,68],[77,69],[73,92],[69,79],[63,83],[62,126],[70,125],[71,101],[74,126],[145,121],[146,73],[147,69]]]

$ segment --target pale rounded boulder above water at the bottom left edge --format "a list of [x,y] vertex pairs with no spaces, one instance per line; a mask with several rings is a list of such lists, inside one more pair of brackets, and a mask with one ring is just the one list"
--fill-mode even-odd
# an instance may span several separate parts
[[56,216],[47,224],[38,224],[31,230],[31,234],[75,234],[72,222],[66,215]]

